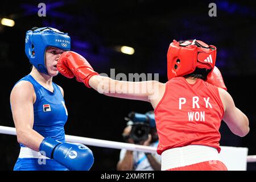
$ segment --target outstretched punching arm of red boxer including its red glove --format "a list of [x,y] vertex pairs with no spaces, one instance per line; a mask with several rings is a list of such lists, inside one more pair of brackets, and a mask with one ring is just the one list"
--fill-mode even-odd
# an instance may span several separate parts
[[100,76],[84,57],[73,51],[61,54],[57,69],[65,77],[75,75],[77,81],[106,96],[148,101],[153,107],[158,104],[165,90],[165,84],[158,81],[129,82]]

